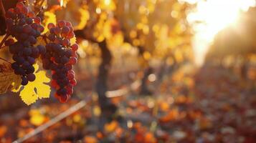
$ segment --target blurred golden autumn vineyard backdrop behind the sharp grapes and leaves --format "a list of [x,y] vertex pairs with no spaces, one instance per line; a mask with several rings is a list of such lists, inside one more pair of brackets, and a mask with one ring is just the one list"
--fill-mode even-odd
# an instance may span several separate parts
[[256,142],[255,4],[45,0],[43,24],[74,26],[77,86],[65,104],[0,95],[0,142]]

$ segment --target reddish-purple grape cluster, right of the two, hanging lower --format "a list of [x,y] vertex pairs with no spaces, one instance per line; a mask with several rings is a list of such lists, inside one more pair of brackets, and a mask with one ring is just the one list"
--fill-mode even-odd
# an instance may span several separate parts
[[70,44],[70,39],[74,37],[70,22],[58,21],[56,25],[50,23],[47,27],[50,42],[45,46],[46,53],[41,56],[43,68],[52,71],[51,84],[57,90],[55,97],[60,102],[67,102],[77,84],[72,67],[77,63],[78,45]]

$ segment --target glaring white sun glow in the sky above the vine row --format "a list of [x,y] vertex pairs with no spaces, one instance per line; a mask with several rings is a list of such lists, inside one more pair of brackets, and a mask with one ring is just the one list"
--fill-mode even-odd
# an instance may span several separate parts
[[193,26],[194,54],[196,64],[202,64],[214,36],[227,26],[232,26],[238,20],[242,11],[255,6],[255,0],[179,0],[196,4],[196,11],[187,17],[189,23],[201,23]]

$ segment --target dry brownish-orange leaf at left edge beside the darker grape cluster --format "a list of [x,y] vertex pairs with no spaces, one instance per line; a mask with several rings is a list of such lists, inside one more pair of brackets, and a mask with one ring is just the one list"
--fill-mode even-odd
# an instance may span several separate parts
[[6,93],[10,89],[17,89],[22,79],[14,74],[9,64],[0,64],[0,94]]

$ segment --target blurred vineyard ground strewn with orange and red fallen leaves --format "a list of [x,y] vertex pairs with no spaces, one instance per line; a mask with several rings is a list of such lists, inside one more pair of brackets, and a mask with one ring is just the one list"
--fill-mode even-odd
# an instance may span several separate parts
[[153,96],[131,91],[114,97],[118,113],[102,126],[97,95],[82,87],[67,104],[52,98],[16,107],[6,99],[0,105],[0,142],[24,137],[82,99],[85,107],[25,142],[256,142],[252,79],[218,66],[182,67],[150,86]]

